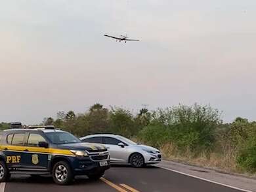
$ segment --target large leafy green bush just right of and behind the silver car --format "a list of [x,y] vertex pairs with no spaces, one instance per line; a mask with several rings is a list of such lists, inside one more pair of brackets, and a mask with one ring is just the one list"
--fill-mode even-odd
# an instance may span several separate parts
[[139,138],[154,146],[172,142],[180,150],[209,151],[219,123],[220,113],[210,106],[179,105],[154,112],[152,124],[144,127]]

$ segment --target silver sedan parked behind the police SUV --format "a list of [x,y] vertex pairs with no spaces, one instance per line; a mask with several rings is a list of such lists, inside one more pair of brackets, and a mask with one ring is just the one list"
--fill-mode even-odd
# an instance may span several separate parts
[[80,140],[82,142],[104,144],[110,152],[110,162],[112,164],[128,163],[133,167],[143,167],[161,161],[161,153],[158,149],[137,144],[120,135],[88,135],[81,137]]

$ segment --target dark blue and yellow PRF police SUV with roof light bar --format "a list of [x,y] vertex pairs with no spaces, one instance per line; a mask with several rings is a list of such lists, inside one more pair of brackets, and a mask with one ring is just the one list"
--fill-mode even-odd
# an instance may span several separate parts
[[0,133],[0,139],[0,182],[11,174],[51,174],[56,184],[66,185],[75,175],[96,180],[110,168],[103,145],[82,143],[53,126],[8,129]]

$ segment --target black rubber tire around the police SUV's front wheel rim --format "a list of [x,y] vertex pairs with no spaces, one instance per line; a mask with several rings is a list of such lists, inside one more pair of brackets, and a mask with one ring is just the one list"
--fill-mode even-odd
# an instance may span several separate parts
[[[64,166],[67,170],[67,177],[63,182],[60,182],[55,176],[56,168],[58,168],[59,166]],[[66,161],[59,161],[55,163],[55,165],[53,166],[53,180],[58,185],[68,185],[74,180],[74,174],[70,168],[70,165],[68,165]]]

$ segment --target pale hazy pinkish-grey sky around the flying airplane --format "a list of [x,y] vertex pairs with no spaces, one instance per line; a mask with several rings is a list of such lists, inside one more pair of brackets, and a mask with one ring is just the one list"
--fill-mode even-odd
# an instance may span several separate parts
[[210,104],[224,121],[256,120],[255,24],[255,0],[2,0],[0,121],[95,103]]

